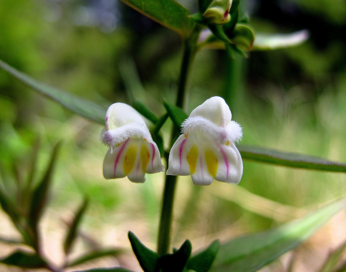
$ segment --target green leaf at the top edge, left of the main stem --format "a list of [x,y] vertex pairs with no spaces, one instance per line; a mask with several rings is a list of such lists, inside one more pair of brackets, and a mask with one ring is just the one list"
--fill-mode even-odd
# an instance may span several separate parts
[[174,0],[121,0],[159,24],[186,37],[192,30],[190,12]]

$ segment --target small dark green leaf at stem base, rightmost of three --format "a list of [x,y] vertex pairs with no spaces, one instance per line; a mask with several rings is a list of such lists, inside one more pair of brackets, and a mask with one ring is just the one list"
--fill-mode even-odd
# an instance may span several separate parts
[[209,271],[211,264],[213,263],[217,252],[220,248],[219,240],[212,242],[205,250],[192,256],[187,265],[187,269],[194,270],[196,272],[207,272]]

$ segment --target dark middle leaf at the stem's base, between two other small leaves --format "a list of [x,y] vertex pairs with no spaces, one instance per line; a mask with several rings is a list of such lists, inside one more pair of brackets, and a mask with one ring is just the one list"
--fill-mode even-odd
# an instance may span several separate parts
[[[173,254],[163,254],[158,259],[160,269],[162,272],[181,272],[183,271],[190,255],[191,255],[191,242],[185,240],[178,250],[174,250]],[[199,272],[199,271],[197,271]]]

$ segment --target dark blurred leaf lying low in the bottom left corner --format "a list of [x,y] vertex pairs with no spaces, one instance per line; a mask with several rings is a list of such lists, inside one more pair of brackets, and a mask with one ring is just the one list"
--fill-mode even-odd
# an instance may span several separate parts
[[46,268],[47,262],[42,257],[27,253],[24,251],[16,251],[11,255],[0,260],[1,263],[7,265],[15,265],[20,268]]

